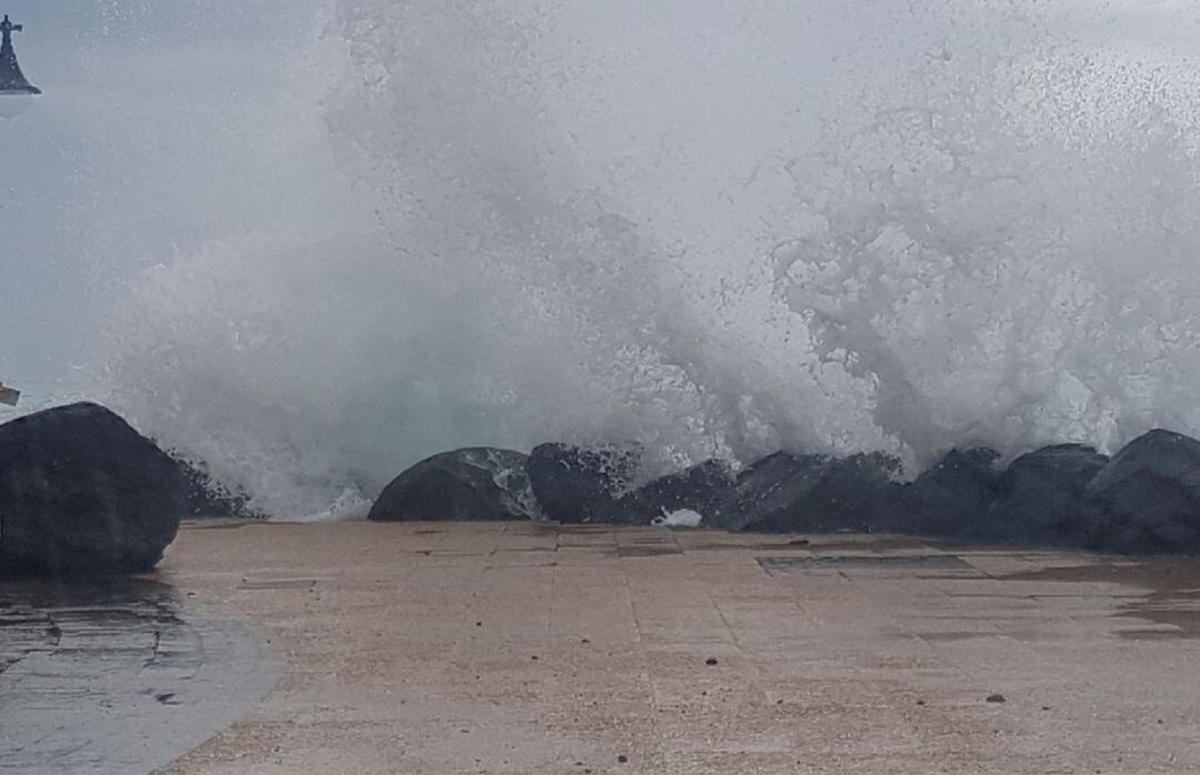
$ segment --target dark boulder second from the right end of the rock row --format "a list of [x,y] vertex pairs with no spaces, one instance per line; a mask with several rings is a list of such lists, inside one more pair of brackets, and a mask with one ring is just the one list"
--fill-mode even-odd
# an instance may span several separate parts
[[1000,494],[979,537],[1031,543],[1086,546],[1097,512],[1085,497],[1087,483],[1108,463],[1091,446],[1057,444],[1013,461],[1000,477]]

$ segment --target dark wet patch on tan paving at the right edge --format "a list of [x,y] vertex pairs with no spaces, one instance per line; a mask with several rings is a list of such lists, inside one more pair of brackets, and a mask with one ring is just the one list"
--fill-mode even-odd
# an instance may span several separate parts
[[[1123,600],[1114,619],[1124,620],[1117,635],[1136,641],[1200,638],[1200,558],[1147,558],[1046,567],[998,576],[1003,581],[1128,584],[1146,589],[1144,597]],[[1148,626],[1138,626],[1139,621]]]

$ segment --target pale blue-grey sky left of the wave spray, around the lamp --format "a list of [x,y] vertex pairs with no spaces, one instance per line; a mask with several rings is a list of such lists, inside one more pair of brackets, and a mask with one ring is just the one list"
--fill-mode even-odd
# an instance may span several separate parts
[[[305,217],[319,0],[8,0],[43,90],[0,119],[0,380],[76,389],[122,284]],[[299,54],[299,55],[298,55]],[[311,208],[319,203],[310,202]]]

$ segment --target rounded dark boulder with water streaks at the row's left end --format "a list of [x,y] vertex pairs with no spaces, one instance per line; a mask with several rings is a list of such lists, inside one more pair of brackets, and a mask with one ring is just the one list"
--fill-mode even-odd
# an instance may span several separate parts
[[474,446],[425,458],[391,480],[371,506],[377,522],[529,519],[536,506],[526,456]]

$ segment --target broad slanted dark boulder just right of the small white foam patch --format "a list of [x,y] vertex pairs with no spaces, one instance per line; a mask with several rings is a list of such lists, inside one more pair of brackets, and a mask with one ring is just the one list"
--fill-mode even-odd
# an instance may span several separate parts
[[899,461],[882,453],[832,458],[776,452],[738,475],[708,524],[758,533],[870,531],[895,500]]

